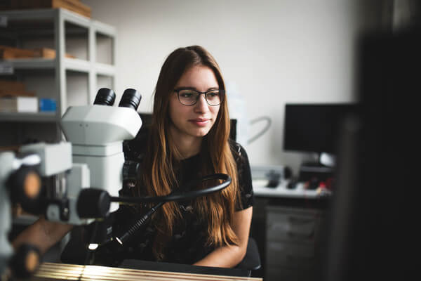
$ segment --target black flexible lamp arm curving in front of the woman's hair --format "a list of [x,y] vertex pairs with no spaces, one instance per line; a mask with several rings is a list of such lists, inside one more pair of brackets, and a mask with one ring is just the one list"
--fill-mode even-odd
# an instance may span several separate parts
[[222,180],[223,182],[219,185],[211,186],[210,188],[204,188],[202,190],[192,190],[183,192],[182,190],[175,190],[169,195],[165,196],[145,196],[145,197],[111,197],[112,202],[126,203],[126,204],[140,204],[140,203],[158,203],[158,202],[170,202],[180,200],[190,200],[203,195],[208,195],[213,192],[223,190],[231,183],[231,177],[227,174],[212,174],[203,176],[199,179],[199,182],[209,180]]

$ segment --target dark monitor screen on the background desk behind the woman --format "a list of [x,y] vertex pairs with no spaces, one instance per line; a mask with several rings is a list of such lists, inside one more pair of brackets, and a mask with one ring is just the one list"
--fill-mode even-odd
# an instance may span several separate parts
[[338,129],[354,103],[287,103],[283,127],[283,149],[335,154]]

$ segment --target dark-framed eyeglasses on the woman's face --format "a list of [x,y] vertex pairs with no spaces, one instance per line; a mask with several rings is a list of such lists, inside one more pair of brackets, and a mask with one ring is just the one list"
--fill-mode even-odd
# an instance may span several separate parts
[[205,95],[206,103],[210,106],[220,105],[224,98],[225,91],[224,90],[209,90],[206,92],[199,92],[194,89],[189,88],[180,88],[175,89],[175,93],[177,93],[178,101],[182,105],[195,105],[197,100],[199,100],[200,95],[203,93]]

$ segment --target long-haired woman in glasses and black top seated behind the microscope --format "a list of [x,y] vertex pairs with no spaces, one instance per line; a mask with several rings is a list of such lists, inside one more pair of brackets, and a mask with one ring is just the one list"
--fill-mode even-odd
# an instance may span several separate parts
[[[167,195],[194,178],[214,173],[229,174],[232,183],[191,202],[163,204],[145,230],[119,252],[123,258],[216,267],[234,267],[243,259],[253,190],[246,152],[229,141],[229,125],[225,84],[215,59],[201,46],[173,51],[156,84],[149,139],[136,139],[125,147],[126,158],[142,159],[142,173],[123,193]],[[145,205],[121,207],[114,230],[145,211]],[[45,220],[39,224],[55,241],[69,230]]]

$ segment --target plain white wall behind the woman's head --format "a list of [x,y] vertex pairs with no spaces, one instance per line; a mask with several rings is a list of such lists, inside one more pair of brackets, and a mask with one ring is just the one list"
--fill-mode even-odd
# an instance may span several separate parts
[[115,91],[138,89],[139,111],[152,110],[159,69],[171,51],[199,44],[213,53],[226,82],[245,98],[248,118],[272,118],[271,129],[246,146],[252,164],[287,164],[296,171],[307,156],[282,150],[285,103],[354,100],[354,1],[83,3],[92,18],[117,28]]

